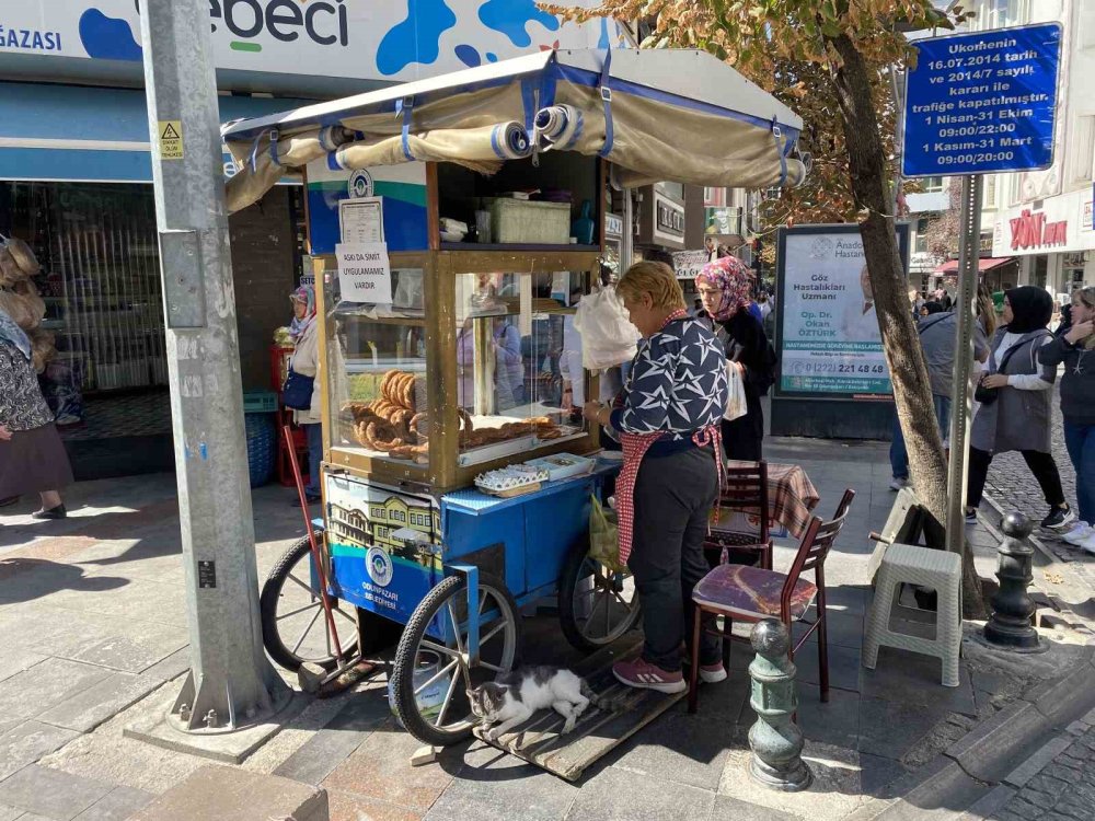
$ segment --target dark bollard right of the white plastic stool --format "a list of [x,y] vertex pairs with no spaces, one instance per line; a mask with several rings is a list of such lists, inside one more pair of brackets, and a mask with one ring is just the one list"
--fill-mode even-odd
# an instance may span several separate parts
[[1027,545],[1026,537],[1034,525],[1021,513],[1008,513],[1001,529],[1007,537],[996,548],[1000,589],[992,597],[992,616],[984,625],[984,638],[1000,647],[1028,650],[1038,647],[1038,632],[1030,622],[1035,605],[1027,594],[1027,586],[1034,580],[1034,548]]

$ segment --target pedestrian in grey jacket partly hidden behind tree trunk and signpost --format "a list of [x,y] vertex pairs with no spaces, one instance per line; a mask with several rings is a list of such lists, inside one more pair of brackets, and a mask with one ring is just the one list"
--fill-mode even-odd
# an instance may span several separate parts
[[[946,442],[950,429],[950,397],[954,394],[955,349],[957,348],[958,316],[941,311],[921,320],[917,327],[920,346],[927,362],[927,379],[932,386],[932,406],[940,436]],[[983,362],[989,358],[989,343],[978,325],[973,328],[973,358]],[[909,453],[904,444],[901,420],[894,418],[894,438],[890,441],[891,490],[909,484]]]

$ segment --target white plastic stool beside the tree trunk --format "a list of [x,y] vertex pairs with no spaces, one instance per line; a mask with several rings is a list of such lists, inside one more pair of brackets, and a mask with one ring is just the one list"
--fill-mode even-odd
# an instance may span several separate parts
[[[921,638],[889,628],[895,590],[900,583],[920,585],[937,594],[935,638]],[[863,639],[863,666],[874,670],[883,645],[935,656],[943,660],[943,686],[958,686],[961,651],[961,556],[909,544],[891,544],[875,580],[875,601]]]

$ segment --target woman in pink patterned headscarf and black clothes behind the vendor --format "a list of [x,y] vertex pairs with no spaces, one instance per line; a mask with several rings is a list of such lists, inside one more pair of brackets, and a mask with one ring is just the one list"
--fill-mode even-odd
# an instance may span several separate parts
[[749,312],[752,277],[745,263],[725,256],[703,266],[695,287],[715,322],[715,336],[734,362],[746,389],[746,415],[723,420],[723,447],[728,459],[759,462],[764,439],[760,397],[772,382],[764,326]]

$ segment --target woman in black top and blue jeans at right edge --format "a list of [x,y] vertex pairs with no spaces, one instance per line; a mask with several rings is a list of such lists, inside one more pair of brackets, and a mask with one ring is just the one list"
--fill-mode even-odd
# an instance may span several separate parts
[[1063,535],[1069,544],[1095,553],[1095,288],[1072,294],[1071,326],[1038,351],[1042,365],[1064,363],[1061,415],[1064,446],[1076,470],[1080,521]]

